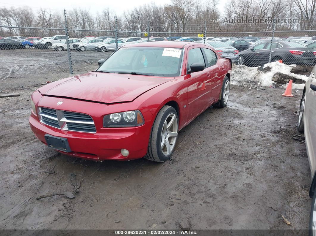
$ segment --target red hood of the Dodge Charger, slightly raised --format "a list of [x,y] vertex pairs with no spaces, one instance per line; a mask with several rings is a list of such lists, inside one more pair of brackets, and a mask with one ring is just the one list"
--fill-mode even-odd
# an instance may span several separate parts
[[89,72],[49,83],[42,95],[74,98],[102,103],[129,102],[173,77],[139,76]]

